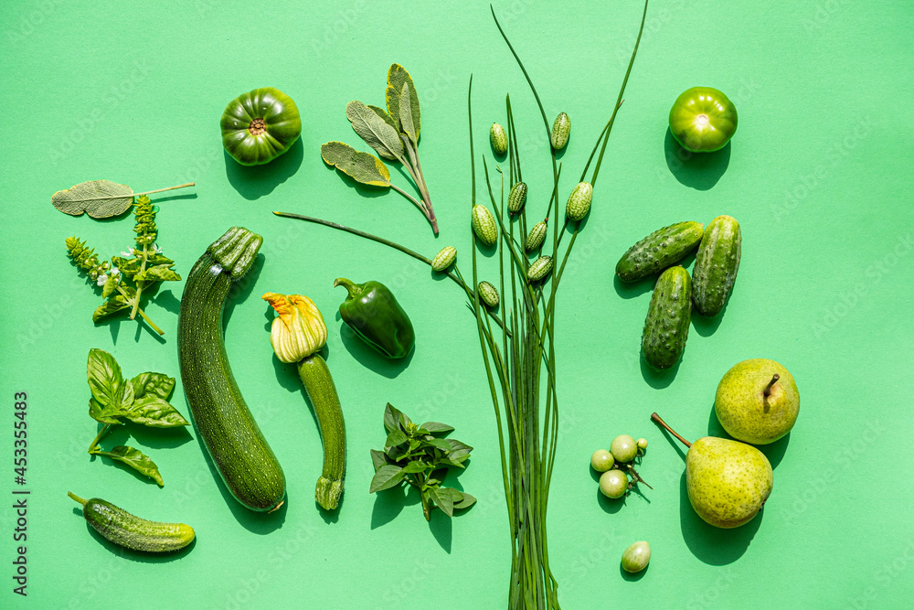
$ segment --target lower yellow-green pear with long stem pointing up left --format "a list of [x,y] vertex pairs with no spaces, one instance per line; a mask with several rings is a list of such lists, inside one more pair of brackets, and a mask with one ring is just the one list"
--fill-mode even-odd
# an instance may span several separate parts
[[771,463],[750,444],[704,436],[689,443],[657,413],[654,422],[688,447],[685,490],[696,513],[717,528],[739,528],[759,514],[771,496]]

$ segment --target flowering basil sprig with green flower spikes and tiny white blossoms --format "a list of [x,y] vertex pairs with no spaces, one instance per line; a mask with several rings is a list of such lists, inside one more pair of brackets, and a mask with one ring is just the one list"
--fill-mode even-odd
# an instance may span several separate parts
[[94,249],[88,248],[85,241],[76,237],[67,238],[67,254],[96,286],[101,287],[101,296],[106,299],[92,313],[93,322],[130,309],[130,319],[139,314],[155,332],[165,335],[165,331],[140,308],[140,299],[143,291],[156,282],[176,282],[181,276],[172,269],[175,262],[165,257],[162,249],[155,245],[158,232],[152,201],[145,195],[138,197],[133,204],[133,214],[136,219],[133,227],[135,245],[122,251],[121,256],[112,256],[111,262],[101,262]]

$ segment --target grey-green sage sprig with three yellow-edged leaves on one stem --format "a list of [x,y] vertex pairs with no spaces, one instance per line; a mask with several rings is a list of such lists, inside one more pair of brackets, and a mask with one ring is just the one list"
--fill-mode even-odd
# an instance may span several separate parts
[[422,175],[419,159],[421,112],[419,94],[409,72],[399,64],[388,70],[388,87],[385,91],[387,110],[365,104],[349,102],[345,107],[346,118],[353,131],[371,146],[377,155],[387,161],[399,161],[409,172],[419,191],[421,200],[390,182],[390,171],[381,159],[370,153],[356,151],[342,142],[331,141],[321,146],[324,163],[335,166],[356,182],[373,187],[389,187],[409,199],[431,224],[438,235],[438,219],[431,206],[429,187]]

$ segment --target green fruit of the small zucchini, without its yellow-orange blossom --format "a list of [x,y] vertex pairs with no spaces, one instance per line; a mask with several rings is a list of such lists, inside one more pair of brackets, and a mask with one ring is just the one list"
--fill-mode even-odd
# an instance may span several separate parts
[[314,406],[317,426],[324,441],[324,470],[317,479],[314,499],[324,508],[333,510],[339,505],[345,476],[345,422],[336,393],[334,378],[320,354],[312,354],[298,363],[298,376],[302,379],[308,398]]

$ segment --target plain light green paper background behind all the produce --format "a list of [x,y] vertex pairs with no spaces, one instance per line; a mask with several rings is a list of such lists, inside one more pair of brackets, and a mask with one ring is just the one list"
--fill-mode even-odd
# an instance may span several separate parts
[[[549,115],[569,113],[561,200],[606,122],[641,16],[639,2],[496,3]],[[593,208],[569,261],[557,316],[560,437],[549,503],[549,551],[563,607],[901,607],[914,594],[910,285],[914,232],[914,9],[907,2],[652,3],[613,128]],[[512,95],[532,218],[551,188],[536,103],[485,3],[276,1],[5,3],[0,17],[0,606],[353,607],[505,605],[510,547],[494,417],[473,317],[459,289],[419,262],[334,230],[271,215],[308,213],[433,255],[455,245],[470,269],[466,85],[473,73],[477,154],[505,122]],[[353,99],[383,105],[392,62],[422,104],[420,155],[441,236],[393,192],[353,187],[319,146],[358,142]],[[303,137],[269,166],[224,153],[218,119],[242,91],[275,86],[303,112]],[[739,131],[709,158],[682,159],[666,117],[694,85],[728,93]],[[482,164],[477,164],[482,180]],[[402,187],[408,180],[391,166]],[[100,303],[65,255],[79,235],[102,254],[128,246],[129,217],[58,213],[49,198],[84,180],[135,190],[194,180],[155,196],[165,253],[183,276],[228,227],[264,237],[256,281],[232,304],[226,344],[239,387],[284,466],[287,508],[251,514],[228,498],[197,432],[130,427],[158,463],[158,488],[85,450],[85,359],[110,351],[124,374],[178,376],[183,283],[147,312],[165,339],[124,317],[93,326]],[[482,184],[482,183],[480,183]],[[481,193],[482,194],[482,193]],[[629,245],[684,219],[739,219],[743,259],[725,314],[696,316],[685,357],[655,374],[639,360],[651,281],[613,282]],[[482,274],[494,277],[493,260]],[[416,327],[405,363],[357,342],[335,316],[337,276],[388,284]],[[338,515],[313,501],[321,443],[291,367],[272,357],[260,294],[314,298],[329,326],[327,361],[345,409],[349,466]],[[742,359],[777,359],[802,394],[790,436],[766,448],[775,485],[763,513],[714,530],[685,498],[686,437],[719,433],[717,381]],[[13,594],[13,395],[28,394],[28,597]],[[175,405],[187,414],[183,393]],[[479,498],[448,520],[418,498],[367,494],[369,448],[383,444],[390,401],[417,420],[456,427],[473,444],[460,483]],[[619,433],[650,441],[641,473],[654,486],[624,502],[600,497],[588,458]],[[182,520],[197,542],[175,558],[120,551],[94,536],[67,498],[98,496],[139,514]],[[619,558],[649,540],[650,568],[624,577]]]

